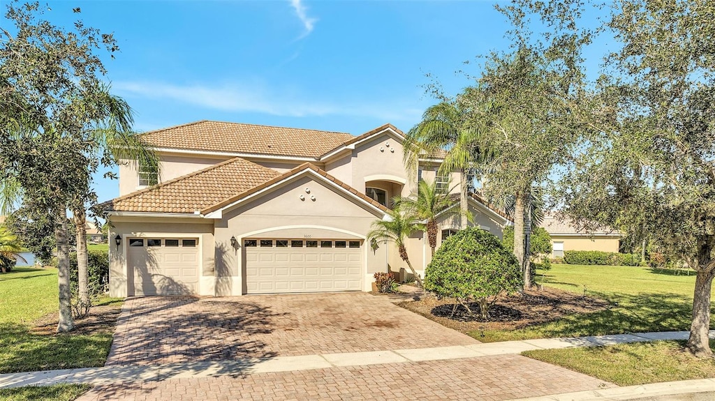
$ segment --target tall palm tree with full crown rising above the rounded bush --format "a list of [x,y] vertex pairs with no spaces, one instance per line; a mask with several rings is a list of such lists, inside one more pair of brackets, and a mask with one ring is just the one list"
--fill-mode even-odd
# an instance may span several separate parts
[[468,171],[480,165],[488,154],[480,147],[478,125],[468,125],[466,113],[456,101],[442,101],[430,106],[422,121],[408,131],[403,147],[403,161],[410,173],[417,171],[419,157],[445,152],[438,173],[447,175],[460,171],[460,228],[466,228],[468,213]]

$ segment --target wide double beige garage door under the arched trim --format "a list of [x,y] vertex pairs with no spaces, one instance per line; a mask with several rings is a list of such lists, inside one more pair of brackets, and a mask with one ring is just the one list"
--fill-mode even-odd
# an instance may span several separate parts
[[361,290],[360,240],[244,240],[249,294]]

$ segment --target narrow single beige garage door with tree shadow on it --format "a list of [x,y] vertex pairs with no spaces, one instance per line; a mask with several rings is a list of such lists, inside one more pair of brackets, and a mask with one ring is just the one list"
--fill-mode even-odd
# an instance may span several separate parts
[[[134,295],[199,292],[198,238],[129,238]],[[132,288],[129,288],[132,295]]]

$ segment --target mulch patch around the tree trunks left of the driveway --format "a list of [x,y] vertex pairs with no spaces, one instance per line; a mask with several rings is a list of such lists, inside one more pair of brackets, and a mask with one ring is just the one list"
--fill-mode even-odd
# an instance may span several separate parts
[[[89,311],[87,318],[74,319],[74,330],[71,333],[74,335],[112,334],[121,312],[121,303],[94,306]],[[31,328],[31,333],[36,335],[56,335],[58,318],[59,313],[57,312],[45,315],[36,320],[34,328]]]

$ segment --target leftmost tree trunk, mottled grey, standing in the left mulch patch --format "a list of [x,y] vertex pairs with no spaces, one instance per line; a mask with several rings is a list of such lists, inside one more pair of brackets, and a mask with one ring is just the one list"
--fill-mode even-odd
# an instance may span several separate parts
[[59,323],[57,332],[63,333],[74,329],[72,319],[71,291],[69,289],[69,241],[67,240],[67,210],[57,213],[59,224],[55,229],[57,242],[57,286],[59,288]]

